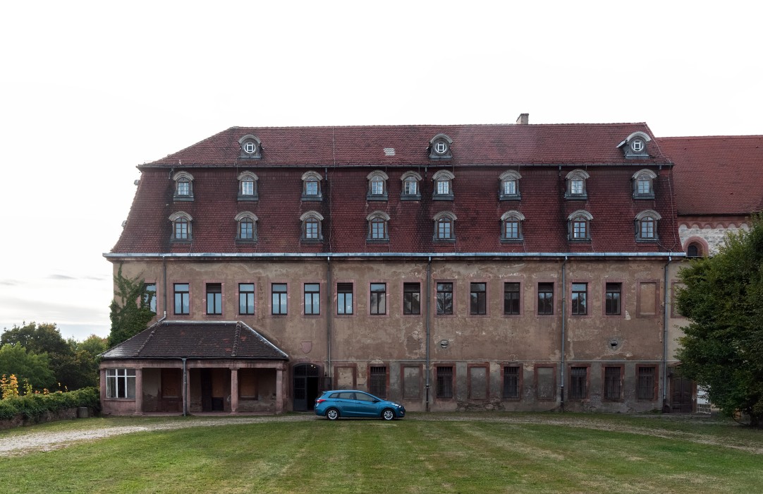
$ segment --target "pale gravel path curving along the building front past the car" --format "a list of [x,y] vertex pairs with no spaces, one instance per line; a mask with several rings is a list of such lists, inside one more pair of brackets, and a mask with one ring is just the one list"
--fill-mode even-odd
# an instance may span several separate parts
[[[266,422],[295,422],[295,421],[316,421],[323,420],[315,415],[278,415],[278,416],[257,416],[257,417],[204,417],[193,418],[189,421],[179,421],[169,419],[167,421],[152,421],[146,425],[114,425],[113,427],[99,427],[92,429],[82,429],[75,431],[40,431],[39,428],[28,428],[28,430],[14,429],[10,434],[4,434],[8,431],[0,431],[0,457],[18,456],[27,454],[31,451],[50,451],[67,447],[71,444],[82,441],[95,441],[103,437],[111,437],[120,434],[131,434],[134,432],[145,431],[165,431],[170,429],[191,428],[191,427],[215,427],[220,425],[237,424],[259,424]],[[588,428],[600,431],[613,431],[628,434],[642,434],[655,437],[665,437],[667,439],[677,439],[681,441],[691,441],[699,444],[708,444],[713,446],[731,447],[738,450],[745,450],[749,453],[763,454],[763,447],[759,441],[750,441],[749,444],[739,444],[739,441],[724,441],[722,438],[705,434],[694,434],[685,431],[674,431],[660,428],[655,423],[654,428],[625,426],[614,421],[600,420],[597,418],[580,418],[564,416],[550,417],[549,415],[439,415],[439,414],[420,414],[414,417],[405,418],[406,421],[491,421],[507,422],[517,425],[559,425],[563,427]],[[5,436],[5,437],[4,437]]]

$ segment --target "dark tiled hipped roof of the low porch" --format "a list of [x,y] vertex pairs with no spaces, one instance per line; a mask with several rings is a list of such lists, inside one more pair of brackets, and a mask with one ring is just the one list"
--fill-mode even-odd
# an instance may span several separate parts
[[103,360],[182,357],[288,360],[240,321],[162,321],[102,354]]

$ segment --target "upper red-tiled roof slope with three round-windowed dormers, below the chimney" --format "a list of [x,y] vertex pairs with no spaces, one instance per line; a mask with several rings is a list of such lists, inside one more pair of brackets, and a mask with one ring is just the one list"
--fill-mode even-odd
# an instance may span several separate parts
[[[239,139],[253,134],[262,141],[257,165],[316,166],[372,163],[379,166],[427,163],[427,146],[436,134],[453,140],[454,165],[471,163],[622,163],[617,149],[639,124],[491,124],[394,125],[355,127],[232,127],[184,150],[143,166],[234,166]],[[394,156],[385,149],[394,148]],[[658,147],[651,160],[665,162]]]

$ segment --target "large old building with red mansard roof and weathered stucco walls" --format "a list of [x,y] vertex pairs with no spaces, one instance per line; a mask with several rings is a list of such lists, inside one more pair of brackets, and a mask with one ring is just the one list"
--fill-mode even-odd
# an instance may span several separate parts
[[128,341],[101,382],[129,367],[140,399],[104,386],[105,410],[171,408],[177,389],[185,412],[310,410],[330,388],[412,411],[674,406],[684,254],[651,139],[644,124],[232,128],[140,166],[106,257],[156,293],[141,341],[238,324],[285,357],[214,360],[184,340],[193,357],[141,360]]

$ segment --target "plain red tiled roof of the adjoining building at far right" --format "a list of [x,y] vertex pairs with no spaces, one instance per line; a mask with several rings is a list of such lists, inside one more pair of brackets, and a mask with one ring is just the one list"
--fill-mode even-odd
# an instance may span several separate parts
[[763,211],[763,136],[660,137],[679,215]]

